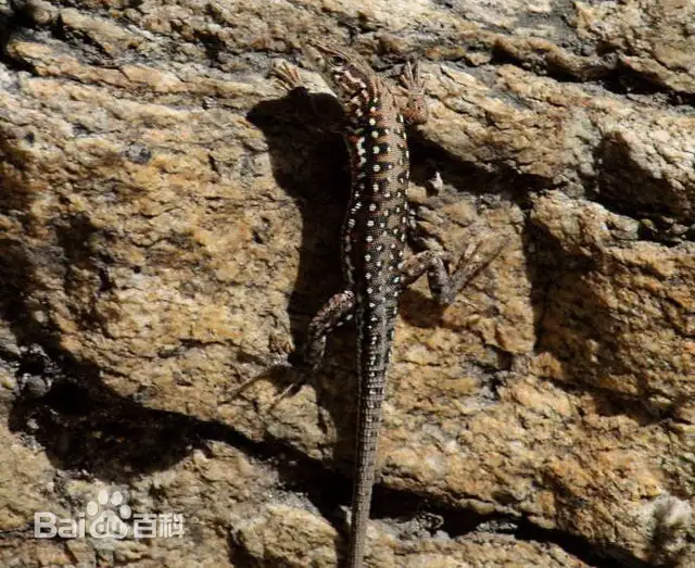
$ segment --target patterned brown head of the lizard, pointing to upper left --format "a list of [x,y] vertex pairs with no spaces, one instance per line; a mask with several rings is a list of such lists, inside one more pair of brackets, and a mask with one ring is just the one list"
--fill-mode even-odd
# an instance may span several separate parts
[[374,73],[362,58],[314,39],[303,45],[303,51],[342,102],[354,103],[357,96],[367,104],[372,98]]

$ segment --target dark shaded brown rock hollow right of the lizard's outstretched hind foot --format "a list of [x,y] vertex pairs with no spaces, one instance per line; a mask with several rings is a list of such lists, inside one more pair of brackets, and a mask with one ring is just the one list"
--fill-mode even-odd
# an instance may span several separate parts
[[535,352],[549,352],[563,365],[567,379],[554,381],[565,390],[589,392],[606,415],[626,414],[646,426],[674,412],[650,402],[657,392],[646,380],[637,383],[637,394],[615,392],[607,384],[611,376],[632,375],[621,349],[621,336],[632,330],[595,293],[586,278],[605,273],[599,251],[572,254],[541,227],[528,226],[527,269],[532,282],[535,314]]

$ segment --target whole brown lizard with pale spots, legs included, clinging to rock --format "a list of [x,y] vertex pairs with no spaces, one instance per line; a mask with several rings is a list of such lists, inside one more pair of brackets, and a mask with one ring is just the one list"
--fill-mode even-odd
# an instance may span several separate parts
[[[355,319],[358,402],[346,564],[362,568],[399,295],[427,273],[432,295],[446,306],[469,275],[464,256],[450,274],[448,253],[428,250],[408,260],[404,254],[409,228],[405,126],[424,124],[428,115],[419,65],[404,65],[401,79],[408,94],[402,104],[361,55],[319,40],[305,41],[302,49],[341,103],[342,134],[350,154],[352,187],[341,238],[346,287],[312,319],[303,359],[309,369],[316,369],[327,335]],[[274,72],[288,90],[303,88],[299,72],[288,63],[280,63]]]

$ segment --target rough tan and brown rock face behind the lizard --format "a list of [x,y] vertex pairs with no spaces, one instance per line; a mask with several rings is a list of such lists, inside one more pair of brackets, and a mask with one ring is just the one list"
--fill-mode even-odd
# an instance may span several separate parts
[[[354,335],[278,402],[342,286],[342,142],[268,77],[308,34],[391,78],[421,61],[414,249],[504,243],[446,311],[403,295],[368,565],[694,566],[694,23],[686,0],[0,0],[0,564],[344,552]],[[116,492],[130,530],[184,535],[34,537]]]

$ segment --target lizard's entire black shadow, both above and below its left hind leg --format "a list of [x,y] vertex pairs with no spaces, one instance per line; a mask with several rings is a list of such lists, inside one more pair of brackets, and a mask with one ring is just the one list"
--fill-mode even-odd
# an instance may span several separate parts
[[[342,109],[333,96],[309,94],[302,88],[279,99],[262,101],[247,115],[265,135],[275,179],[302,216],[299,267],[288,302],[295,349],[303,344],[309,320],[345,286],[340,263],[340,231],[351,177],[345,144],[342,137],[332,131],[341,117]],[[326,453],[332,458],[333,467],[346,477],[353,451],[356,338],[354,326],[343,329],[329,336],[326,355],[315,373],[304,371],[300,365],[288,368],[280,364],[249,382],[269,380],[281,397],[298,391],[303,383],[311,383],[317,397],[321,428],[334,431],[331,434],[334,442]],[[298,351],[290,355],[289,362],[301,362]],[[279,402],[273,412],[282,412]],[[349,502],[348,482],[344,488],[333,488],[333,491],[343,494],[344,502]]]

